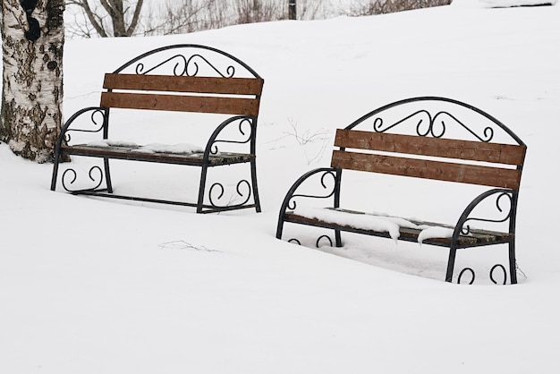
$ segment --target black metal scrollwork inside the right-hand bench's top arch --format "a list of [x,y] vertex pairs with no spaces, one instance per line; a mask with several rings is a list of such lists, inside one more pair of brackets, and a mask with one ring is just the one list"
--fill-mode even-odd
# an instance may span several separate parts
[[[478,133],[472,131],[469,126],[467,126],[465,123],[462,123],[462,121],[460,121],[457,117],[450,114],[449,112],[439,111],[437,112],[436,115],[432,116],[425,109],[418,110],[412,113],[412,115],[407,115],[402,120],[399,120],[388,126],[384,126],[383,118],[377,117],[373,121],[373,130],[375,132],[386,132],[401,123],[405,123],[411,120],[414,117],[420,117],[418,123],[416,124],[416,133],[419,136],[431,135],[434,138],[443,137],[445,135],[445,131],[448,128],[448,124],[446,123],[445,118],[441,118],[441,117],[448,117],[448,119],[453,120],[455,124],[458,124],[466,131],[471,132],[471,134],[480,141],[488,142],[492,140],[492,138],[494,137],[494,129],[492,129],[489,126],[484,128],[482,135],[479,135]],[[426,128],[423,129],[424,127]]]

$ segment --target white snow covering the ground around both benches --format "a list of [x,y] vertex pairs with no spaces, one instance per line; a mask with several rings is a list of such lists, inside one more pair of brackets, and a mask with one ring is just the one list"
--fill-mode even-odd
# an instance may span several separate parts
[[[263,212],[196,215],[52,192],[52,166],[0,145],[0,372],[558,372],[560,6],[469,1],[165,38],[69,40],[66,116],[97,105],[103,73],[151,48],[206,44],[250,64],[265,78]],[[328,165],[336,128],[424,95],[478,106],[528,145],[519,285],[446,284],[446,251],[418,243],[347,236],[344,249],[316,250],[276,240],[284,193],[303,172]],[[129,118],[151,140],[147,115]],[[191,143],[187,131],[173,136]],[[115,164],[115,188],[179,199],[184,185],[192,199],[188,176],[198,171],[183,169]],[[459,210],[450,201],[472,198],[445,183],[356,178],[361,191],[349,204],[396,216],[453,221]],[[317,238],[307,227],[286,230],[308,244]],[[495,250],[468,252],[458,267],[493,265]]]

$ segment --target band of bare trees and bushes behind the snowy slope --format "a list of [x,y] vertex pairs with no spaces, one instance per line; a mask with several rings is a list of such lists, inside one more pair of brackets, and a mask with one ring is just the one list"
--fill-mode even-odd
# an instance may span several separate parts
[[[328,13],[330,16],[363,16],[450,4],[451,1],[352,0],[352,5],[346,9]],[[327,0],[298,0],[299,18],[312,20],[325,16],[326,3]],[[287,1],[284,0],[158,0],[156,10],[154,2],[150,4],[144,0],[66,0],[66,4],[77,5],[86,14],[91,27],[79,25],[73,30],[87,38],[93,30],[101,37],[169,35],[287,18]],[[145,4],[148,4],[148,12],[142,13]]]

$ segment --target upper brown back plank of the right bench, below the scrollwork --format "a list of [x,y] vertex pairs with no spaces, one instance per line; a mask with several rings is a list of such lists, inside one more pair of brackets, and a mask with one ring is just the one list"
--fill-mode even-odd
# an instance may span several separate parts
[[484,141],[337,130],[335,146],[521,166],[527,147]]

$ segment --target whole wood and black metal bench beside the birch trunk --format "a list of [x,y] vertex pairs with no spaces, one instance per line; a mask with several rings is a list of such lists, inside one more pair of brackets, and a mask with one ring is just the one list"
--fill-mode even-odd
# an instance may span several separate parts
[[[256,132],[263,83],[250,66],[212,47],[175,45],[133,58],[105,75],[103,88],[106,90],[101,93],[99,106],[81,109],[64,124],[56,143],[51,190],[55,191],[61,162],[71,156],[97,157],[103,160],[103,166],[89,169],[93,185],[74,188],[78,172],[68,167],[61,177],[64,190],[73,194],[196,207],[198,213],[239,208],[255,208],[259,212]],[[133,125],[130,121],[110,121],[115,111],[131,109],[202,113],[211,115],[209,121],[215,124],[207,130],[206,144],[199,147],[192,146],[189,138],[181,139],[174,134],[174,138],[190,145],[154,148],[110,138],[109,123],[112,129],[121,124]],[[157,132],[166,132],[165,124],[156,121],[153,126]],[[200,125],[201,131],[202,127],[208,126]],[[137,132],[136,129],[132,127],[132,132]],[[92,134],[97,137],[93,139],[96,141],[87,139],[71,144],[74,136],[83,138],[83,135],[90,137]],[[218,149],[218,145],[228,149]],[[198,166],[201,168],[198,199],[187,202],[116,194],[109,171],[110,159]],[[240,178],[235,185],[233,194],[242,201],[225,204],[219,201],[225,185],[207,186],[208,169],[234,164],[248,164],[250,177]],[[88,180],[87,177],[82,179]]]

